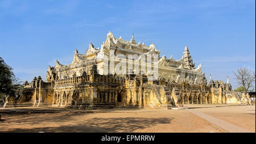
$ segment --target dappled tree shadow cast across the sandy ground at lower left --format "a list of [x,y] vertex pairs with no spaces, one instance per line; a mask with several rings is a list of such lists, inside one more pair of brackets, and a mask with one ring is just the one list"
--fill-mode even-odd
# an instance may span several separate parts
[[[22,115],[22,114],[19,114]],[[134,132],[138,129],[145,129],[158,124],[170,124],[173,118],[143,118],[143,117],[94,117],[80,119],[86,117],[88,113],[67,113],[46,117],[43,114],[23,114],[20,121],[12,121],[11,118],[0,124],[15,125],[16,128],[8,130],[0,130],[7,133],[38,133],[38,132]],[[79,116],[79,117],[78,117]],[[19,116],[21,117],[21,116]],[[49,127],[47,123],[54,127]],[[1,125],[2,125],[1,124]],[[23,125],[33,125],[34,128],[25,128]],[[43,124],[43,126],[42,126]],[[41,125],[41,126],[39,126]],[[3,125],[2,125],[3,126]],[[5,128],[3,126],[3,128]],[[1,127],[1,126],[0,126]]]

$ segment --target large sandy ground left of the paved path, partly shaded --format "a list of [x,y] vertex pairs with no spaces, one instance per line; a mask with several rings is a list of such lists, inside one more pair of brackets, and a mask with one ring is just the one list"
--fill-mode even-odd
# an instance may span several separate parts
[[224,132],[185,109],[18,109],[26,112],[0,109],[0,132]]

